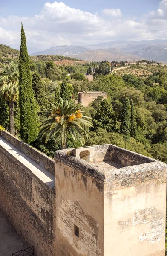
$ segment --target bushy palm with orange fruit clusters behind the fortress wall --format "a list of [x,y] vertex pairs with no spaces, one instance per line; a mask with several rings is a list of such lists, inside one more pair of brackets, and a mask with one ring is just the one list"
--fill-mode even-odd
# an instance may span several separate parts
[[84,135],[87,137],[85,127],[93,127],[88,116],[83,116],[81,103],[75,104],[74,100],[60,98],[60,103],[52,104],[52,109],[47,117],[40,121],[39,137],[46,137],[45,142],[55,135],[55,143],[61,141],[61,149],[67,147],[68,135],[75,141],[79,137],[84,145]]

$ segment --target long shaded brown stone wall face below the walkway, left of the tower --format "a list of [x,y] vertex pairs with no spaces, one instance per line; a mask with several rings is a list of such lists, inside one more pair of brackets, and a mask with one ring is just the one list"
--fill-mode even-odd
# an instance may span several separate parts
[[56,240],[55,191],[2,146],[0,208],[20,236],[34,246],[36,256],[66,256]]

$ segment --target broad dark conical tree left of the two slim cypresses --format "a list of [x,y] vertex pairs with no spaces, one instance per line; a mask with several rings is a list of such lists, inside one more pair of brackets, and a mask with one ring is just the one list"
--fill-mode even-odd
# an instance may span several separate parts
[[115,113],[112,110],[112,105],[107,101],[107,99],[104,99],[99,104],[93,123],[95,128],[104,128],[109,132],[116,131],[117,122],[115,119]]

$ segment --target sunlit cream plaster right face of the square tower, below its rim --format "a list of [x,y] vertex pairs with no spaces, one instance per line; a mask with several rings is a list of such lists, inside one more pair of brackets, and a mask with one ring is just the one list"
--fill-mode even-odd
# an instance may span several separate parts
[[166,184],[153,182],[105,197],[105,256],[165,255],[165,189]]

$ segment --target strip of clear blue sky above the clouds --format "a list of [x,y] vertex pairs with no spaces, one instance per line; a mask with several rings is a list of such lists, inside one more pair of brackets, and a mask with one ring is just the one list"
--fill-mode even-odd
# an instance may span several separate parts
[[[0,0],[0,16],[37,15],[46,0]],[[48,1],[52,3],[53,1]],[[87,12],[100,12],[105,8],[120,8],[125,16],[140,17],[158,8],[158,0],[64,0],[66,5]]]

